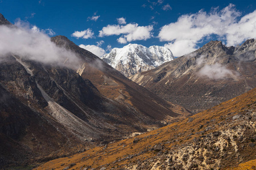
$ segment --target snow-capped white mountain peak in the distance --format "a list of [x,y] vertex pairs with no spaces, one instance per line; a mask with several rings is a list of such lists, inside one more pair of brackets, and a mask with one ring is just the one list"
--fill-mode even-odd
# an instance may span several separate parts
[[113,48],[101,59],[128,77],[154,69],[164,62],[171,61],[174,56],[171,50],[164,46],[154,45],[147,48],[139,44],[128,44],[123,48]]

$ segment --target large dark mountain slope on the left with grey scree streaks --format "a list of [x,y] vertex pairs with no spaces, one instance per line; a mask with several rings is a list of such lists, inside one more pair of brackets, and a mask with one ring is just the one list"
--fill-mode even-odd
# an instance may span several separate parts
[[45,61],[43,52],[36,53],[37,59],[34,53],[0,54],[0,167],[59,158],[190,114],[138,86],[67,37],[43,38],[50,47],[43,51],[56,52],[48,53],[53,62]]

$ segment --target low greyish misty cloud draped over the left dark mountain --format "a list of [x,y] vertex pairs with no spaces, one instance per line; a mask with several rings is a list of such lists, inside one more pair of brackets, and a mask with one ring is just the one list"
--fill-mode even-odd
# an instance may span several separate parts
[[16,23],[16,27],[0,26],[0,58],[13,55],[72,69],[79,67],[80,59],[74,53],[56,46],[51,38],[38,27],[28,29],[17,25],[22,24]]

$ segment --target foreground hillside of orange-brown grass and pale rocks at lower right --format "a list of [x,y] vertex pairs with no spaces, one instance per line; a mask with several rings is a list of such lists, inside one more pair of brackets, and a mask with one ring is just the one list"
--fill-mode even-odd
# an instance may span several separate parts
[[256,88],[183,121],[35,169],[222,169],[241,163],[253,168],[255,122]]

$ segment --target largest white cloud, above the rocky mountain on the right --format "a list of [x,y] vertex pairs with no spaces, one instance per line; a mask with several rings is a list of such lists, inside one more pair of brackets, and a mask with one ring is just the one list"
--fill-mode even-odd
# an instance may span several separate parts
[[158,37],[160,41],[170,41],[166,46],[175,56],[196,50],[199,42],[212,35],[226,41],[228,46],[235,46],[256,37],[256,10],[241,15],[232,4],[222,10],[212,8],[209,13],[200,10],[196,14],[181,15],[177,22],[164,25]]

